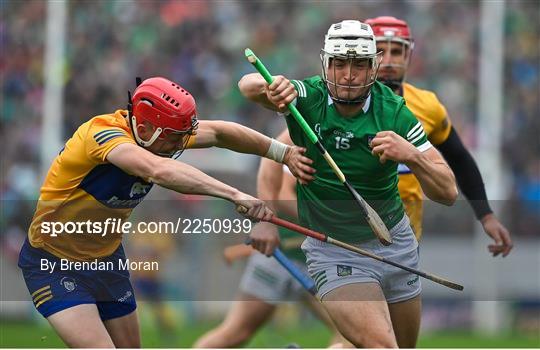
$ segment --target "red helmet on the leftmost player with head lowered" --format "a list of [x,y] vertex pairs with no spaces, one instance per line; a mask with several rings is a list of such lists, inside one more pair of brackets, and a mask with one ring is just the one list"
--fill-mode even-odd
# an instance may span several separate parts
[[[161,77],[144,80],[133,93],[131,124],[137,142],[144,147],[171,133],[192,134],[197,128],[195,99],[180,85]],[[137,124],[146,121],[156,127],[148,141],[139,138]]]

